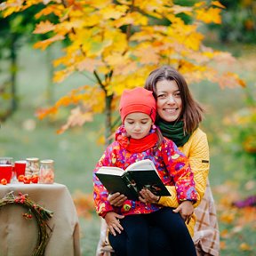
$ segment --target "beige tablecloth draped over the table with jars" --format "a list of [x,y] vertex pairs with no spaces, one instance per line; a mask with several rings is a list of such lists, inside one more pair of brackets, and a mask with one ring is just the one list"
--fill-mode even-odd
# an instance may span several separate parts
[[[76,208],[68,188],[62,184],[8,184],[0,185],[0,198],[13,191],[14,195],[28,194],[36,204],[53,213],[48,224],[53,228],[45,249],[45,256],[79,256],[79,225]],[[37,241],[35,218],[26,220],[22,213],[28,212],[20,205],[0,208],[0,255],[32,255]]]

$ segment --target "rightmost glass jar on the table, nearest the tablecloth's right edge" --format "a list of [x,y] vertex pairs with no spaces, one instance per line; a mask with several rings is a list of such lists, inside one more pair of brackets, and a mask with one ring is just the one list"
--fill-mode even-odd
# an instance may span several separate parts
[[54,182],[54,161],[52,159],[40,161],[39,183],[52,184]]

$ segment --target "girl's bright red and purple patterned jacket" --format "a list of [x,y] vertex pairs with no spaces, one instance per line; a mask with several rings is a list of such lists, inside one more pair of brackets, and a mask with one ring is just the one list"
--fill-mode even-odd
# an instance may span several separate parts
[[[150,159],[154,162],[165,186],[175,186],[179,203],[185,200],[196,203],[197,194],[194,176],[190,170],[188,158],[180,152],[172,140],[164,138],[158,148],[148,148],[140,153],[132,153],[122,143],[124,138],[120,139],[124,137],[124,132],[124,127],[122,126],[117,130],[116,135],[122,134],[122,136],[116,136],[117,140],[108,146],[93,172],[93,198],[96,211],[101,217],[104,218],[107,212],[113,211],[123,215],[130,215],[156,212],[162,208],[159,204],[144,204],[140,201],[132,200],[126,200],[122,207],[112,206],[108,202],[108,191],[95,175],[95,172],[101,166],[116,166],[125,170],[130,164],[142,159]],[[156,130],[152,129],[151,133],[153,132],[156,132]],[[147,175],[147,171],[145,171],[145,175]]]

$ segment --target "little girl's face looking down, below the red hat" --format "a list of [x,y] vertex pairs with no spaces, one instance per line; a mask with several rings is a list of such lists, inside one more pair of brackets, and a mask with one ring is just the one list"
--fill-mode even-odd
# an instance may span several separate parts
[[144,113],[135,112],[127,115],[124,119],[126,132],[132,139],[142,139],[151,129],[153,122],[150,116]]

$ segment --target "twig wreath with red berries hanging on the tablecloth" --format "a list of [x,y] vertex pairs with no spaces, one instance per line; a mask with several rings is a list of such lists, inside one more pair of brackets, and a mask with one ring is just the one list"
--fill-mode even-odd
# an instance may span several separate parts
[[23,213],[23,217],[27,220],[31,220],[33,215],[36,217],[36,223],[38,227],[38,238],[36,243],[36,248],[34,249],[32,256],[42,256],[44,255],[44,250],[47,242],[52,234],[52,228],[47,224],[47,220],[52,218],[53,212],[44,209],[44,207],[36,204],[28,198],[28,194],[21,194],[19,196],[14,196],[13,191],[6,194],[0,200],[0,210],[1,207],[8,204],[17,204],[28,209],[28,212]]

